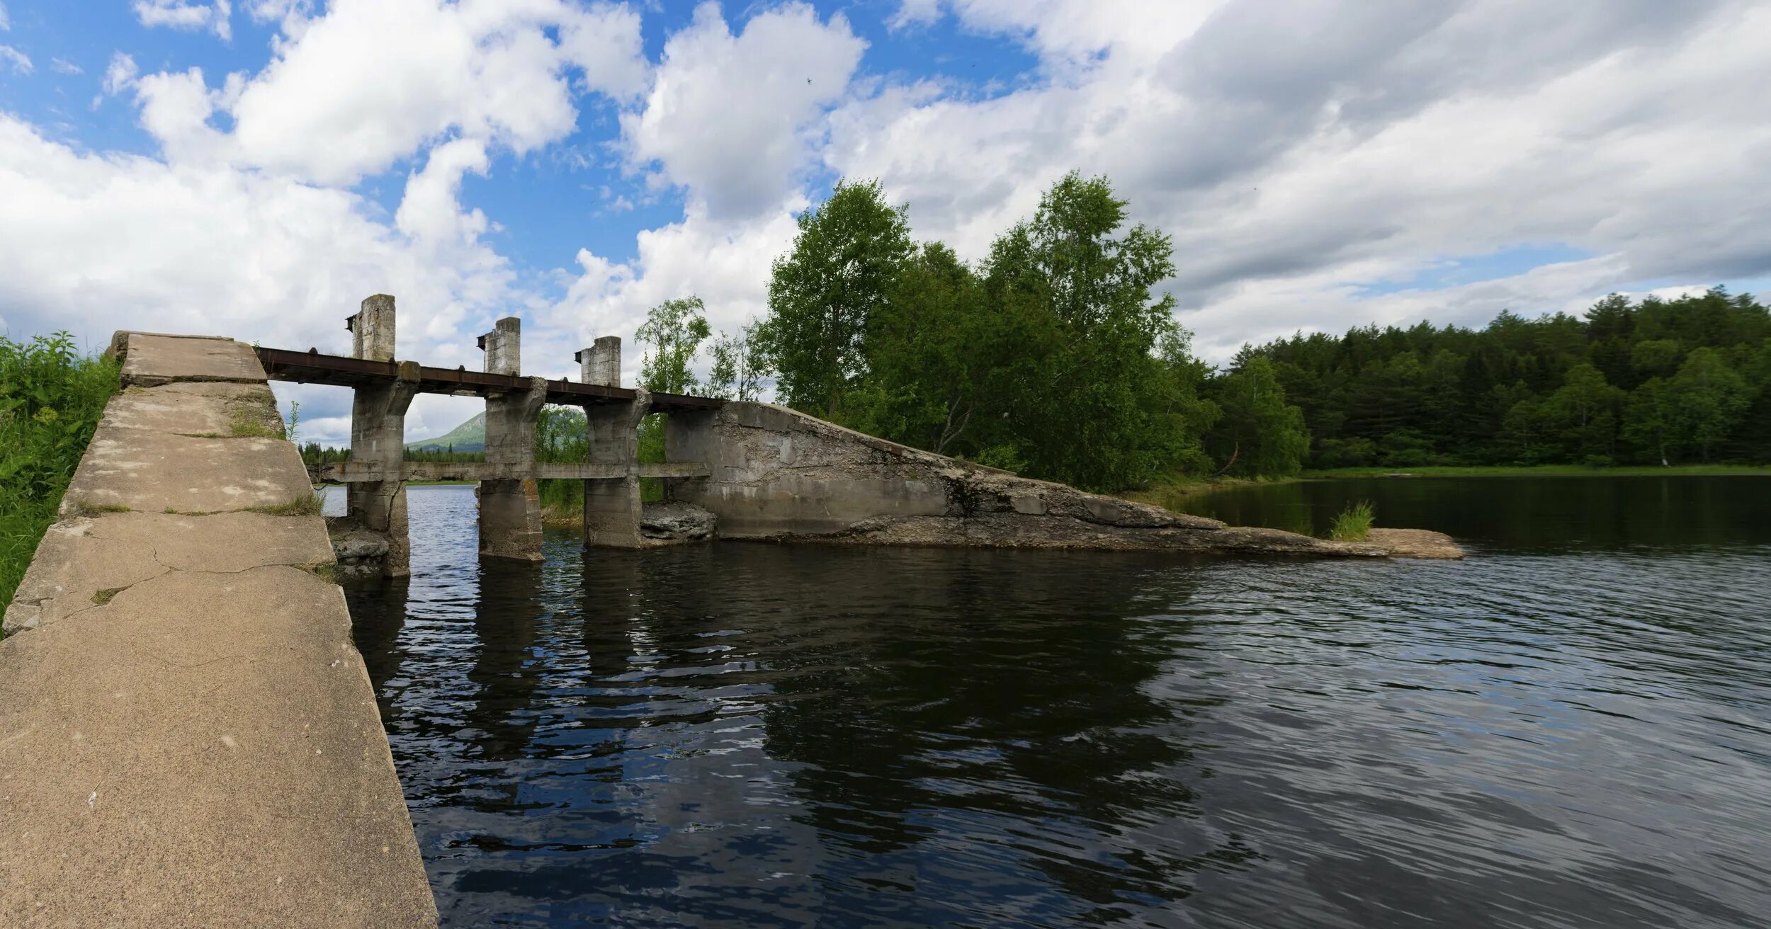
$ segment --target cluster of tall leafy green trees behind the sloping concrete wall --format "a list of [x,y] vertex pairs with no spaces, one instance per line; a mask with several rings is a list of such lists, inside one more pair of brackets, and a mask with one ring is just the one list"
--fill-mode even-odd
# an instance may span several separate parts
[[[1070,173],[979,267],[910,246],[877,182],[800,218],[758,329],[792,407],[898,442],[1096,490],[1208,465],[1172,244],[1107,179]],[[717,356],[715,356],[717,363]]]

